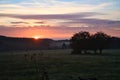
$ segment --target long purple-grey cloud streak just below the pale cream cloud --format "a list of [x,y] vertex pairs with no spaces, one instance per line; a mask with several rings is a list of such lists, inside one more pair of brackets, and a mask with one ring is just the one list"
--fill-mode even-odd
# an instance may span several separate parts
[[102,15],[96,12],[81,12],[81,13],[69,13],[69,14],[41,14],[41,15],[20,15],[20,14],[0,14],[0,17],[12,17],[20,19],[75,19],[86,18],[95,15]]

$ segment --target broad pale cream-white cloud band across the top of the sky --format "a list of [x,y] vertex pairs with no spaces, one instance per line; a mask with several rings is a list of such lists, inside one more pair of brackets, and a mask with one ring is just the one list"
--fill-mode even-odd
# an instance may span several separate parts
[[[79,2],[63,2],[58,0],[26,0],[16,4],[2,4],[0,9],[4,9],[4,12],[8,13],[21,13],[21,14],[54,14],[54,13],[72,13],[72,12],[88,12],[103,9],[112,5],[109,3],[99,3],[97,5],[92,4],[80,4]],[[4,6],[4,7],[3,7]],[[27,10],[27,11],[26,11]],[[24,13],[22,13],[22,11]],[[57,11],[57,12],[56,12]]]

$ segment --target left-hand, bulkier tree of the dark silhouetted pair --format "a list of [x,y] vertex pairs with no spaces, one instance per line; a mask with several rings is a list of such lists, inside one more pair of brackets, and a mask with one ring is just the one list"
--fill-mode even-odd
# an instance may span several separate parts
[[89,48],[89,39],[90,39],[90,33],[86,31],[81,31],[79,33],[76,33],[71,38],[71,48],[73,49],[73,54],[81,54],[82,51],[85,53],[87,52]]

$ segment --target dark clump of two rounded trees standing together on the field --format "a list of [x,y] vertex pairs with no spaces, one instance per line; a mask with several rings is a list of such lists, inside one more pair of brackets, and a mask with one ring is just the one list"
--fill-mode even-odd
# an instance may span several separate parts
[[81,31],[74,34],[70,41],[73,54],[87,53],[88,50],[93,50],[95,53],[98,50],[102,53],[102,50],[109,44],[110,36],[103,32],[90,35],[87,31]]

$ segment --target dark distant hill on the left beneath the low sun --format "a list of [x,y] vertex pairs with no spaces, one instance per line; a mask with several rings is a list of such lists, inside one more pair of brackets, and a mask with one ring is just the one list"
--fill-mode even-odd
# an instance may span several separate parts
[[34,49],[49,49],[52,39],[33,39],[33,38],[14,38],[0,36],[0,50],[34,50]]

